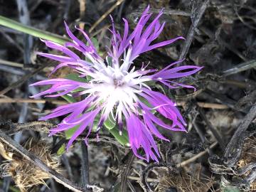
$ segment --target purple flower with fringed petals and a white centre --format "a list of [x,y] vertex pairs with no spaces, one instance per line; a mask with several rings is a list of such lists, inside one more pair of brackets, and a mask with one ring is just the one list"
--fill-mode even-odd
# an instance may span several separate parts
[[[108,48],[105,60],[97,53],[95,46],[84,31],[77,28],[85,37],[87,43],[83,43],[76,38],[66,23],[66,31],[73,42],[67,42],[65,46],[61,46],[58,43],[44,41],[49,48],[59,50],[65,54],[38,53],[38,55],[60,62],[52,73],[59,68],[69,67],[79,73],[80,77],[87,76],[90,78],[88,82],[57,78],[33,84],[51,85],[48,90],[33,95],[33,97],[41,95],[46,95],[46,97],[58,97],[67,94],[73,97],[84,95],[85,99],[80,102],[57,107],[46,117],[41,118],[41,120],[46,120],[65,115],[62,122],[50,130],[50,135],[75,126],[78,127],[68,142],[67,147],[69,147],[82,132],[87,134],[85,138],[87,139],[90,132],[92,132],[95,117],[100,117],[96,130],[96,132],[99,132],[106,119],[112,116],[118,124],[119,134],[122,134],[123,124],[127,128],[129,144],[136,156],[146,161],[149,161],[149,159],[158,161],[159,151],[154,142],[154,137],[167,141],[168,139],[159,132],[156,126],[172,131],[186,132],[186,122],[178,111],[175,102],[171,101],[166,95],[151,90],[148,82],[158,81],[170,88],[194,88],[179,84],[175,80],[193,75],[201,70],[201,67],[193,65],[175,67],[177,63],[182,61],[171,63],[160,71],[146,69],[144,65],[135,69],[133,65],[134,59],[141,53],[183,39],[177,37],[169,41],[152,43],[164,28],[164,23],[159,22],[161,14],[163,14],[162,11],[153,21],[149,22],[151,14],[149,14],[148,6],[139,18],[134,31],[130,34],[128,21],[123,18],[123,35],[116,31],[112,19],[112,28],[110,29],[112,48]],[[80,58],[70,48],[80,51],[87,60]],[[163,118],[171,120],[171,124],[166,124],[161,120],[162,118],[156,117],[153,110],[161,114]],[[144,149],[145,155],[138,153],[139,148]]]

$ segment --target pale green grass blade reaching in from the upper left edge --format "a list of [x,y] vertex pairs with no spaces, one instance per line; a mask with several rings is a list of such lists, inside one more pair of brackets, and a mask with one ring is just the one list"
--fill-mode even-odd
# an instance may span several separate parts
[[43,31],[38,28],[33,28],[31,26],[23,25],[17,21],[14,21],[10,18],[6,18],[4,16],[0,16],[0,25],[6,26],[8,28],[12,28],[16,31],[21,31],[23,33],[27,33],[31,36],[35,36],[38,38],[43,38],[44,40],[53,41],[55,43],[64,44],[67,41],[70,41],[69,38],[65,38],[63,36],[58,36],[54,33],[50,33],[48,31]]

